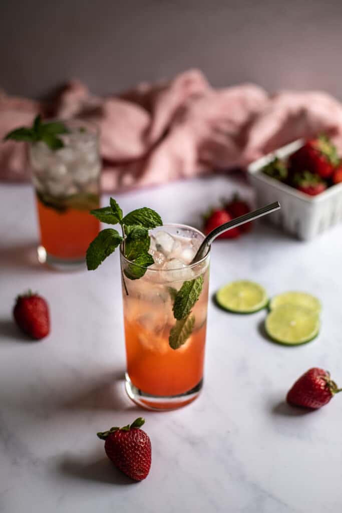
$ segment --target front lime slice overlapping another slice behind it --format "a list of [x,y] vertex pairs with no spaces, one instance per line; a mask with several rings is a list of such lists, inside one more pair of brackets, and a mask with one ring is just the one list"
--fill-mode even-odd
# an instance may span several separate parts
[[267,315],[265,329],[275,342],[296,346],[317,336],[319,317],[303,306],[281,305]]

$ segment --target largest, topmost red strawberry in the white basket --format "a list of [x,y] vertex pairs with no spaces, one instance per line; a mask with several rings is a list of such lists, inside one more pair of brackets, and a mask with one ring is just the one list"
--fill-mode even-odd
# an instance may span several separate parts
[[293,172],[304,170],[317,173],[322,178],[332,175],[339,164],[336,147],[326,135],[320,135],[317,139],[307,141],[289,159]]

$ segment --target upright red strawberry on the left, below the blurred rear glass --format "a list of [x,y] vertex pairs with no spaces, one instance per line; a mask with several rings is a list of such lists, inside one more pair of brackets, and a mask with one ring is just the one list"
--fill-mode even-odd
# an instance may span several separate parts
[[13,315],[19,328],[33,339],[43,339],[50,332],[48,304],[31,290],[17,296]]

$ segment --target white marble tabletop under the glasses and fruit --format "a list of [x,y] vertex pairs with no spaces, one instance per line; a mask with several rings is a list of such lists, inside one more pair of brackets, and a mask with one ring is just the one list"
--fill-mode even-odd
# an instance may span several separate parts
[[[193,224],[235,188],[252,195],[246,184],[218,176],[118,200],[125,211],[146,204],[166,222]],[[33,258],[31,188],[2,185],[0,205],[1,512],[342,510],[342,397],[310,413],[284,403],[311,366],[342,383],[342,226],[303,243],[259,224],[240,240],[215,243],[212,293],[238,278],[257,280],[270,294],[312,291],[324,306],[321,333],[304,346],[278,346],[260,330],[265,312],[232,315],[211,302],[201,396],[177,411],[143,413],[123,390],[118,255],[95,272],[46,270]],[[28,287],[50,303],[52,333],[42,342],[29,342],[12,324],[15,295]],[[95,433],[142,414],[152,467],[145,481],[131,483]]]

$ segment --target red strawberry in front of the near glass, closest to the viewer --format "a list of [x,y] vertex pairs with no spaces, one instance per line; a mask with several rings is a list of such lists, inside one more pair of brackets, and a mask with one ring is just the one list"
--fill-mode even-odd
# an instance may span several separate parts
[[145,420],[139,417],[125,427],[112,427],[109,431],[97,433],[106,440],[105,451],[114,465],[135,481],[145,479],[151,467],[151,441],[140,429]]

